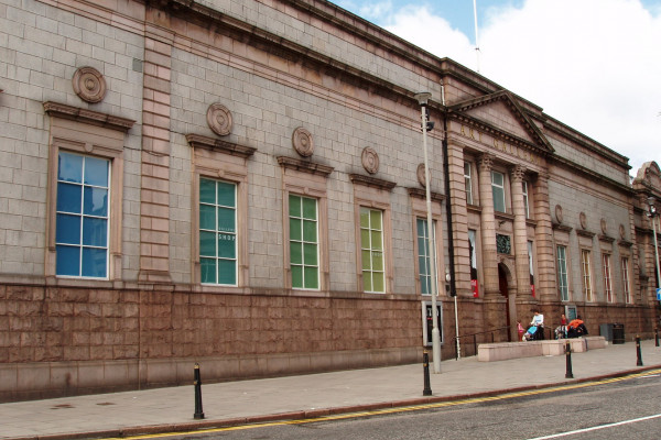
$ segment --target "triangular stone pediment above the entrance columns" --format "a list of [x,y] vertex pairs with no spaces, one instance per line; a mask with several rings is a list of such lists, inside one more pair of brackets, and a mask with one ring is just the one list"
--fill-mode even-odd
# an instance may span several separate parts
[[455,117],[491,133],[501,133],[546,153],[553,152],[546,136],[507,90],[457,102],[448,109]]

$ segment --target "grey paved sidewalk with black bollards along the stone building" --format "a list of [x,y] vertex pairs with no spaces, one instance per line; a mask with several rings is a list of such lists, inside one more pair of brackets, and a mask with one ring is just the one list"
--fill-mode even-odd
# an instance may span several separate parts
[[[189,385],[1,404],[0,439],[89,438],[100,432],[120,437],[299,419],[661,369],[661,348],[654,346],[653,340],[642,341],[641,352],[644,366],[636,365],[633,342],[573,353],[573,380],[565,378],[564,355],[500,362],[478,362],[475,356],[443,361],[442,373],[431,374],[431,397],[422,396],[422,363],[220,384],[204,384],[201,365],[204,420],[193,419],[194,387]],[[433,372],[432,365],[430,370]]]

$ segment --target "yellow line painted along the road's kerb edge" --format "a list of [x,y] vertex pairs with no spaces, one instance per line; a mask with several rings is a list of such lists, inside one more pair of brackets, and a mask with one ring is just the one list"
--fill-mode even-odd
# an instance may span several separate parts
[[[585,382],[585,383],[577,383],[577,384],[571,384],[571,385],[561,385],[561,386],[554,386],[554,387],[550,387],[550,388],[531,389],[531,391],[527,391],[527,392],[500,394],[497,396],[473,397],[473,398],[466,398],[466,399],[462,399],[462,400],[440,402],[440,403],[435,403],[435,404],[423,404],[423,405],[414,405],[414,406],[405,406],[405,407],[397,407],[397,408],[375,409],[375,410],[361,411],[361,413],[338,414],[338,415],[334,415],[334,416],[323,416],[323,417],[315,417],[315,418],[311,418],[311,419],[281,420],[281,421],[272,421],[272,422],[266,422],[266,424],[241,425],[241,426],[234,426],[234,427],[226,427],[226,428],[203,428],[203,429],[193,429],[189,431],[182,431],[182,432],[163,432],[163,433],[133,436],[133,437],[113,437],[113,438],[107,438],[106,440],[162,439],[162,438],[166,438],[166,437],[182,437],[182,436],[188,436],[188,435],[195,435],[195,433],[240,431],[240,430],[256,429],[256,428],[268,428],[268,427],[286,426],[286,425],[316,424],[319,421],[335,421],[335,420],[346,420],[346,419],[354,419],[354,418],[360,418],[360,417],[383,416],[383,415],[388,415],[388,414],[410,413],[410,411],[416,411],[416,410],[422,410],[422,409],[437,409],[437,408],[445,408],[445,407],[459,406],[459,405],[481,404],[485,402],[506,400],[506,399],[516,398],[516,397],[527,397],[527,396],[535,396],[535,395],[540,395],[540,394],[549,394],[549,393],[555,393],[555,392],[587,388],[587,387],[592,387],[592,386],[606,385],[606,384],[613,384],[613,383],[617,383],[617,382],[628,381],[628,380],[632,380],[632,378],[646,377],[646,376],[650,376],[652,374],[661,374],[661,370],[647,371],[644,373],[635,373],[635,374],[629,374],[627,376],[611,377],[611,378],[606,378],[606,380],[597,381],[597,382]],[[657,416],[652,416],[652,417],[657,417]],[[659,415],[659,417],[661,417],[661,415]],[[545,439],[545,438],[551,439],[553,437],[541,437],[540,439]],[[530,440],[534,440],[534,439],[530,439]]]

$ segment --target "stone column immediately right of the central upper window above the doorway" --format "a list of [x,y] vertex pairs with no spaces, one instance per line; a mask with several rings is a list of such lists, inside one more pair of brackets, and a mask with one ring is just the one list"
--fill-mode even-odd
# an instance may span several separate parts
[[528,227],[525,224],[525,201],[523,200],[523,177],[525,167],[510,168],[512,208],[514,211],[514,264],[517,272],[517,299],[530,299],[530,265],[528,257]]

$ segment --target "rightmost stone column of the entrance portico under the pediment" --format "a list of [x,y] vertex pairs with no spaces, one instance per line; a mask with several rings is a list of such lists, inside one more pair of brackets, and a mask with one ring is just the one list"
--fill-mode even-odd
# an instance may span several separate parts
[[537,221],[534,233],[538,267],[534,288],[539,300],[550,302],[559,300],[560,297],[556,287],[548,174],[538,175],[534,183],[533,207],[534,220]]

